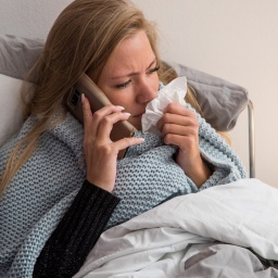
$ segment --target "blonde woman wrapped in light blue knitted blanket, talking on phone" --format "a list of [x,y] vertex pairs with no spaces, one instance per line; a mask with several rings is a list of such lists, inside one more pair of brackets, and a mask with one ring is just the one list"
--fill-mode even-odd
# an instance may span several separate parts
[[[34,73],[26,122],[0,150],[0,276],[71,277],[104,229],[174,195],[244,176],[211,129],[211,143],[224,146],[228,162],[214,163],[213,154],[200,152],[199,125],[206,125],[190,108],[166,108],[157,123],[162,138],[140,131],[146,105],[168,74],[153,25],[127,1],[71,3]],[[92,114],[83,97],[83,128],[62,103],[84,73],[113,104]],[[190,91],[187,101],[198,109]],[[136,136],[111,141],[113,124],[125,119]],[[126,148],[127,157],[117,161]]]

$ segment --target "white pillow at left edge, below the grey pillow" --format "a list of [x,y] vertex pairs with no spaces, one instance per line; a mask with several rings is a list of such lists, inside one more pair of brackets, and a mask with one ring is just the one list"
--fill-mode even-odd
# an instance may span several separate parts
[[21,79],[0,74],[0,146],[23,124],[22,84]]

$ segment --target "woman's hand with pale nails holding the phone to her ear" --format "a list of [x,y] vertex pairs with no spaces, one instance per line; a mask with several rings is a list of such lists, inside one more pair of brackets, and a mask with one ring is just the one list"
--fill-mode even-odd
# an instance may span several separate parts
[[113,125],[130,116],[129,113],[122,112],[122,106],[110,104],[92,114],[88,99],[83,96],[83,110],[87,180],[111,192],[115,185],[117,153],[132,144],[141,143],[143,139],[130,137],[116,142],[110,139]]

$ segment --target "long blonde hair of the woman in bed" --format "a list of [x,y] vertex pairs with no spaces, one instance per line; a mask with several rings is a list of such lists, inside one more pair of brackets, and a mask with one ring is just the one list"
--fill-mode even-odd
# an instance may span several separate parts
[[[93,73],[97,83],[115,47],[139,30],[146,31],[161,65],[154,24],[128,0],[76,0],[62,11],[41,55],[27,75],[27,79],[37,76],[37,86],[26,105],[25,117],[35,115],[37,123],[11,153],[1,177],[0,192],[29,159],[39,136],[63,119],[65,113],[50,122],[72,86],[88,72]],[[165,68],[161,67],[159,75],[167,83]]]

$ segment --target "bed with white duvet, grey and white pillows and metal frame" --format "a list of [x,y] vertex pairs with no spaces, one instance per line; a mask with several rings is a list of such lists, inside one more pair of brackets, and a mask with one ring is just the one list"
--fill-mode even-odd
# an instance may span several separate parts
[[[0,144],[22,124],[20,88],[42,47],[40,39],[0,36]],[[187,76],[202,116],[215,129],[231,130],[249,110],[250,178],[173,198],[106,230],[74,277],[278,277],[278,190],[255,179],[248,91],[165,63]],[[34,79],[26,84],[34,88]]]

